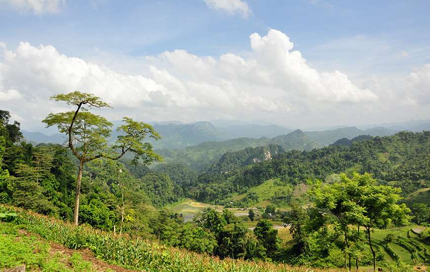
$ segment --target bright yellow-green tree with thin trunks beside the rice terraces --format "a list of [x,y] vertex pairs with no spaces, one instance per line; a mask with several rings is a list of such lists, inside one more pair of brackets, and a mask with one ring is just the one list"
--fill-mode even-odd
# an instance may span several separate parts
[[[372,228],[386,228],[390,224],[402,226],[408,223],[410,210],[405,204],[396,204],[400,199],[400,188],[377,185],[371,174],[354,173],[352,178],[340,174],[340,181],[322,187],[317,181],[310,190],[315,205],[329,210],[338,220],[338,227],[344,233],[345,252],[351,267],[351,238],[349,226],[363,226],[373,255],[373,269],[376,269],[376,252],[372,246]],[[357,247],[359,248],[359,247]]]

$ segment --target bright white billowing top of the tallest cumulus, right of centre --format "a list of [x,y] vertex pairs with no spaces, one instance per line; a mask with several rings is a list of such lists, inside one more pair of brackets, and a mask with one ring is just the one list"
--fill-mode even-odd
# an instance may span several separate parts
[[368,89],[361,90],[339,71],[319,73],[311,68],[300,51],[291,51],[294,44],[284,33],[270,30],[261,37],[250,36],[251,47],[256,52],[260,70],[278,88],[284,91],[302,92],[311,99],[337,102],[363,102],[377,100],[378,96]]

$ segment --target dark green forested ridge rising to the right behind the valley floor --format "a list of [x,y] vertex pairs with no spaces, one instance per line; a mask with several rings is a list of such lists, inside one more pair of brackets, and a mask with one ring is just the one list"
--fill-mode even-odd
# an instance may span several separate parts
[[401,187],[407,194],[430,185],[429,156],[430,132],[399,132],[354,141],[351,146],[293,150],[228,173],[202,174],[190,192],[201,201],[224,203],[233,194],[272,178],[298,184],[309,178],[324,180],[333,173],[357,171],[372,173],[380,182]]

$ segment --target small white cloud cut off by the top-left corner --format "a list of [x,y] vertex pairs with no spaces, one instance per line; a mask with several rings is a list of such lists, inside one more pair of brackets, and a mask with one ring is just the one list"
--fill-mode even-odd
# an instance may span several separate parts
[[20,11],[32,11],[34,14],[57,13],[65,0],[1,0]]

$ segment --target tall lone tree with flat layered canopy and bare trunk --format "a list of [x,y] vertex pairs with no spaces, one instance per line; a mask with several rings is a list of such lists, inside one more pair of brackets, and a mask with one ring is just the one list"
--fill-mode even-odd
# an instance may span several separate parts
[[138,161],[143,164],[161,161],[161,156],[154,152],[152,145],[149,142],[143,142],[146,136],[156,140],[161,137],[154,131],[152,126],[124,117],[123,122],[125,124],[117,128],[120,135],[117,137],[115,144],[109,146],[108,138],[112,131],[112,123],[103,116],[95,115],[88,111],[91,108],[110,108],[109,104],[91,93],[79,91],[57,94],[51,96],[51,99],[64,101],[68,105],[77,107],[75,111],[50,113],[42,121],[46,124],[46,127],[57,126],[60,133],[68,136],[68,147],[79,160],[75,208],[73,211],[73,220],[77,226],[84,164],[98,158],[118,160],[127,152],[134,154],[133,164],[137,164]]

